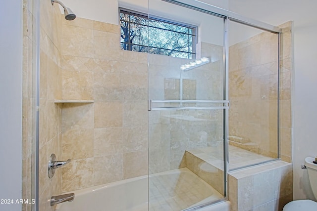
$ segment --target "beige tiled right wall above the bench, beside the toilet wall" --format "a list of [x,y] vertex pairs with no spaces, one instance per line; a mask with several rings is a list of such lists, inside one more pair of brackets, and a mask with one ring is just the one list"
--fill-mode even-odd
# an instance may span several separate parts
[[279,76],[276,34],[264,32],[229,47],[229,143],[277,158],[279,85],[280,157],[291,162],[291,23],[281,27]]

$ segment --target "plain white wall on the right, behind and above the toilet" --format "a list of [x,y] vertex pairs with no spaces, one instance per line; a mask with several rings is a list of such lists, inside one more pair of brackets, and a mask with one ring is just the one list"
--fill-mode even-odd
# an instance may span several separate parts
[[307,156],[317,156],[317,1],[229,0],[229,10],[272,25],[294,21],[293,164],[294,200],[314,199]]

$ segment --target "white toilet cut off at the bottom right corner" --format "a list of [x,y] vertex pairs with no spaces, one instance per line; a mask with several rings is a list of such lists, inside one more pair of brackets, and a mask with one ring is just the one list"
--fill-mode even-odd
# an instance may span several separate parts
[[[313,161],[315,158],[307,157],[305,159],[305,166],[308,170],[309,181],[314,193],[317,198],[317,164]],[[317,202],[312,200],[297,200],[286,204],[283,211],[317,211]]]

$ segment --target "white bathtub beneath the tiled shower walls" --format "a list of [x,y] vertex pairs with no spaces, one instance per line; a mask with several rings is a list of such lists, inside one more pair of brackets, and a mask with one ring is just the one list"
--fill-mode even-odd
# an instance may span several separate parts
[[[191,175],[193,174],[193,175]],[[196,176],[187,168],[166,171],[155,176],[175,176],[188,175]],[[150,179],[153,175],[150,175]],[[76,190],[69,193],[75,194],[73,202],[64,202],[56,206],[55,211],[148,211],[149,210],[149,186],[148,175],[125,179],[104,185],[94,186],[82,190]],[[215,191],[217,192],[217,191]],[[210,193],[210,192],[209,192]],[[201,205],[219,198],[217,193],[211,193],[211,196],[204,199],[196,205]],[[150,203],[151,204],[151,203]],[[195,207],[192,205],[187,207]],[[150,209],[158,210],[158,209]],[[159,209],[160,210],[160,209]],[[167,211],[164,209],[162,211]],[[181,209],[180,209],[181,210]],[[230,211],[228,201],[217,203],[200,209],[201,211]]]

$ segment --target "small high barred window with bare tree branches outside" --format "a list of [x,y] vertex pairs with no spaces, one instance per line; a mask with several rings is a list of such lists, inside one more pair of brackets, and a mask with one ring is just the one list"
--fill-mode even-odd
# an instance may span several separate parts
[[120,8],[121,49],[195,59],[196,27]]

